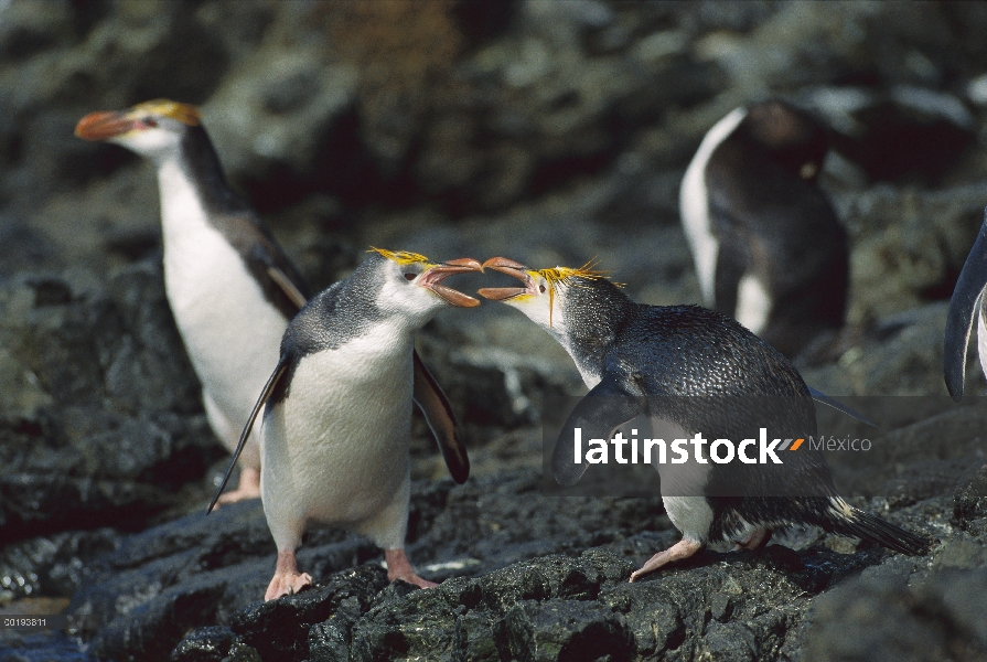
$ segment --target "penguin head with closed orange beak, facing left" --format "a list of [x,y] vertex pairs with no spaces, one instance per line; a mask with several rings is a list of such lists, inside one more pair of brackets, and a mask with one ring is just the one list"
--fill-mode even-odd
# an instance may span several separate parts
[[127,110],[90,113],[76,125],[75,135],[84,140],[116,142],[162,161],[178,153],[182,138],[199,124],[195,106],[154,99]]

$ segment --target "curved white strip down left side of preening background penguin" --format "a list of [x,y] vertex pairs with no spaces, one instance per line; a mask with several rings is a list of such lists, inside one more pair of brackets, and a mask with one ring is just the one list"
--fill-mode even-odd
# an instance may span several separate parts
[[686,169],[678,192],[678,209],[683,228],[693,252],[693,259],[696,261],[699,288],[702,290],[702,300],[706,306],[712,306],[715,302],[716,263],[720,246],[712,234],[712,224],[709,218],[706,164],[714,150],[733,132],[744,116],[747,116],[747,110],[737,108],[709,129]]

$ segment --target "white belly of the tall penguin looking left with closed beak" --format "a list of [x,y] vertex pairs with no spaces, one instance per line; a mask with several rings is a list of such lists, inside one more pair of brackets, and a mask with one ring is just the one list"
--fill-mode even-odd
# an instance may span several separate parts
[[[225,419],[211,413],[210,421],[233,450],[277,364],[288,322],[191,193],[170,192],[162,204],[168,301],[203,391]],[[256,450],[245,451],[245,461],[255,465],[250,455]]]

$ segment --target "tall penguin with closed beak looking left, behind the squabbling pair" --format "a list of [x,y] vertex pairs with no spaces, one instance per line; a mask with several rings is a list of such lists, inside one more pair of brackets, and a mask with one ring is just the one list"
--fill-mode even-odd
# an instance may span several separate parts
[[[120,145],[158,168],[168,302],[202,382],[210,425],[233,452],[308,287],[227,184],[194,106],[158,99],[92,113],[75,135]],[[239,485],[224,503],[260,495],[257,441],[250,438]]]

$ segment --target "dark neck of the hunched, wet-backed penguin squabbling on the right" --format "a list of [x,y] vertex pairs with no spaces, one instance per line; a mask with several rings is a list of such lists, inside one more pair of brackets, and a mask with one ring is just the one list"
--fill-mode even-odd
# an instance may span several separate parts
[[603,376],[607,354],[639,308],[610,281],[568,288],[562,307],[565,329],[552,333],[572,356],[588,386]]

